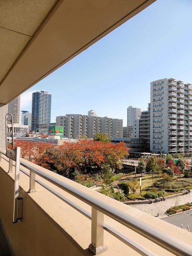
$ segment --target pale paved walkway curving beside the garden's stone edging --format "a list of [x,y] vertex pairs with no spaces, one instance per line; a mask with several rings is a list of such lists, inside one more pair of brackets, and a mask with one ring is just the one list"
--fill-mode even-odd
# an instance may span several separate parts
[[158,203],[130,204],[130,206],[144,211],[145,213],[149,213],[152,216],[157,216],[157,213],[160,213],[159,218],[163,218],[168,217],[167,214],[165,214],[165,211],[170,208],[170,206],[175,206],[176,201],[179,203],[179,205],[192,202],[192,192],[187,195],[168,198],[165,201]]

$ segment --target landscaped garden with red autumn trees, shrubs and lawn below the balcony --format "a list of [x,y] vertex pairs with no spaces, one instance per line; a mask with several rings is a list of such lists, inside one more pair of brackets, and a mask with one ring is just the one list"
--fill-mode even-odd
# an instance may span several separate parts
[[89,188],[99,186],[97,191],[119,201],[163,198],[192,189],[192,169],[182,155],[177,161],[172,155],[140,158],[140,186],[140,178],[135,178],[134,172],[120,173],[129,148],[125,143],[111,143],[106,134],[60,146],[21,140],[15,146],[21,146],[22,158]]

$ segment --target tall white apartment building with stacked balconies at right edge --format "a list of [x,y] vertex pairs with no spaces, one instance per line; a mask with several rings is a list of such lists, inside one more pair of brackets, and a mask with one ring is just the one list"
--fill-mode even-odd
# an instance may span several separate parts
[[192,151],[192,86],[174,78],[151,82],[150,150]]

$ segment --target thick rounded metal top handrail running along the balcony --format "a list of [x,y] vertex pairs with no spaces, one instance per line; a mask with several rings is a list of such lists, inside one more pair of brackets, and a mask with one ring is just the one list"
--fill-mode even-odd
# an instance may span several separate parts
[[[0,153],[3,152],[0,151]],[[192,255],[192,246],[190,246],[189,244],[184,243],[176,238],[173,238],[172,236],[158,230],[157,228],[154,228],[146,223],[143,223],[142,221],[130,216],[129,214],[122,212],[119,209],[110,206],[104,203],[103,201],[93,196],[90,196],[87,193],[78,190],[77,188],[70,186],[69,184],[63,181],[60,181],[47,173],[39,171],[34,166],[31,166],[30,164],[25,163],[22,160],[20,161],[20,164],[25,168],[29,169],[30,171],[32,171],[33,173],[39,175],[40,177],[54,184],[55,186],[61,188],[62,190],[70,193],[71,195],[75,196],[81,201],[97,209],[98,211],[106,214],[107,216],[118,221],[119,223],[125,225],[127,228],[132,229],[133,231],[139,233],[140,235],[144,236],[150,241],[158,244],[162,248],[165,248],[167,251],[170,251],[178,256]]]

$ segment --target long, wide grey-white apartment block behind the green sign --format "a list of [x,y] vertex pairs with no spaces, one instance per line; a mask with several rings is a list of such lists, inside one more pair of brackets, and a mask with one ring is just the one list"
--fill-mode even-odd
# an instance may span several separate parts
[[[70,118],[70,119],[69,119]],[[110,138],[122,137],[122,119],[93,115],[67,114],[56,117],[56,125],[64,126],[66,138],[93,138],[95,133],[106,133]]]

